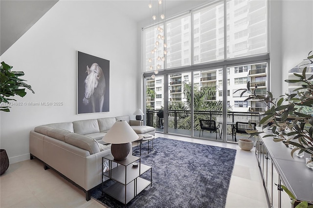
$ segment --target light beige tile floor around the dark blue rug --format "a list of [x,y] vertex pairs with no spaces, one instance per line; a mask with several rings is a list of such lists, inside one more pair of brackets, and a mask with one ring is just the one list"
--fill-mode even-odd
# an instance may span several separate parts
[[[236,144],[160,133],[156,133],[156,137],[237,149],[226,208],[268,208],[254,149],[244,151]],[[53,170],[44,170],[43,163],[37,159],[11,164],[0,177],[0,207],[104,208],[94,199],[87,202],[82,190],[67,182]]]

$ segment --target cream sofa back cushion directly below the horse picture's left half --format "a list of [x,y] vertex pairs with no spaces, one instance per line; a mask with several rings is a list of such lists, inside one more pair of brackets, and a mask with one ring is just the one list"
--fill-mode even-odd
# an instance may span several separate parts
[[74,121],[73,122],[74,132],[77,134],[92,134],[100,132],[98,121],[96,119]]

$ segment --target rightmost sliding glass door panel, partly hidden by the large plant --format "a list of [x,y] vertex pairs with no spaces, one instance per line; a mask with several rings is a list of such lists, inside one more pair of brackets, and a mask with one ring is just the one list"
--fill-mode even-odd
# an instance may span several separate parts
[[[227,141],[238,142],[248,138],[248,128],[260,125],[260,113],[267,105],[257,99],[249,99],[251,93],[266,96],[268,90],[267,62],[235,65],[227,68]],[[251,93],[245,91],[247,84]],[[230,92],[228,94],[228,92]],[[237,132],[237,133],[236,133]],[[251,138],[255,141],[255,138]]]

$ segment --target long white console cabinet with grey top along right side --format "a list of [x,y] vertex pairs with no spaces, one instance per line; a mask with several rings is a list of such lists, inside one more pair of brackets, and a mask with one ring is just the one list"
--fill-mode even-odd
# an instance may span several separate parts
[[[257,127],[261,131],[262,127]],[[264,129],[270,132],[271,130]],[[313,201],[313,170],[305,166],[303,158],[295,154],[291,157],[291,148],[282,142],[274,142],[273,137],[264,137],[261,133],[256,139],[255,155],[263,177],[263,185],[267,192],[268,204],[271,208],[292,208],[289,195],[281,185],[287,187],[300,201]],[[310,203],[309,203],[310,204]],[[294,205],[293,207],[295,207]]]

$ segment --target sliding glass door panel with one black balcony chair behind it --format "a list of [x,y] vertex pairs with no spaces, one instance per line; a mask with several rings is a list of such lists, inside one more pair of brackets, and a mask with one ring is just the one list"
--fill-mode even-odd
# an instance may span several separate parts
[[222,140],[222,68],[194,71],[194,136]]

